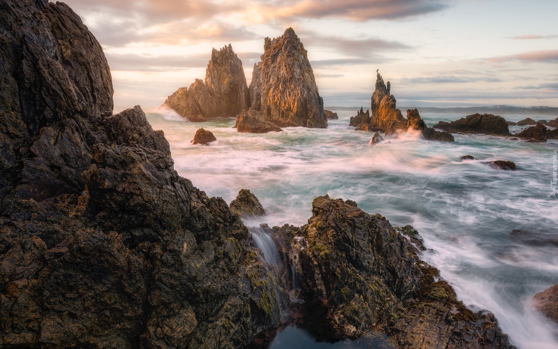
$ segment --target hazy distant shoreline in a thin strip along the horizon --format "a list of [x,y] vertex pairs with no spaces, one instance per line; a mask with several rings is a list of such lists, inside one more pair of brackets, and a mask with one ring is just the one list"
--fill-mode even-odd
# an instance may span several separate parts
[[[364,107],[364,110],[369,109]],[[558,116],[558,108],[555,107],[512,107],[512,106],[486,106],[486,107],[465,107],[465,108],[435,108],[435,107],[401,107],[401,111],[406,111],[407,109],[419,109],[419,112],[427,113],[463,113],[463,114],[474,114],[474,113],[489,113],[489,114],[545,114],[545,115],[556,115]],[[358,111],[360,107],[324,107],[324,109],[331,111]]]

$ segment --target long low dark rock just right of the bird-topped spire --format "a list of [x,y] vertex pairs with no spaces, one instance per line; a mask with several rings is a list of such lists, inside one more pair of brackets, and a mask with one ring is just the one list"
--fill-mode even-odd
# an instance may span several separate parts
[[452,122],[440,121],[432,126],[446,132],[485,133],[487,135],[509,135],[508,122],[493,114],[472,114]]

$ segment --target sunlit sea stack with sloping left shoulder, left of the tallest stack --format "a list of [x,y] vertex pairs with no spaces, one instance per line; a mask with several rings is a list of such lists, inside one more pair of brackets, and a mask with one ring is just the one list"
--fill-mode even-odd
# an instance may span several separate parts
[[219,51],[213,49],[205,81],[196,79],[190,88],[179,88],[162,106],[193,122],[234,117],[249,108],[250,94],[242,61],[232,46],[229,44]]

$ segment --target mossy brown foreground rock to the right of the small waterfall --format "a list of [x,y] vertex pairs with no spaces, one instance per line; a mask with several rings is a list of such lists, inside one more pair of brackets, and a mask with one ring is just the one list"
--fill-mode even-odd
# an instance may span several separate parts
[[438,271],[385,217],[328,195],[314,199],[312,213],[305,226],[273,230],[286,241],[283,261],[300,270],[301,294],[323,309],[315,312],[331,331],[387,333],[400,348],[514,348],[492,313],[473,313],[446,281],[435,281]]

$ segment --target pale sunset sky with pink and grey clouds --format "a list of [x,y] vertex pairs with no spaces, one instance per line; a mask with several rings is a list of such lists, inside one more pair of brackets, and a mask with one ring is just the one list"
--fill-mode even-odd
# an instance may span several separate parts
[[68,0],[107,55],[116,105],[159,106],[232,44],[248,84],[294,28],[325,106],[558,107],[556,0]]

